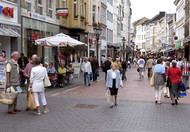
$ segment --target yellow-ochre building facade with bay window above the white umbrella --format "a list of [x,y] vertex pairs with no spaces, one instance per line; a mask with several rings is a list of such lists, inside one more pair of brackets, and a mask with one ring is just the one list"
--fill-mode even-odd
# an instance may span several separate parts
[[[88,43],[88,0],[58,0],[59,9],[68,10],[67,16],[59,16],[60,32],[84,43]],[[63,48],[61,51],[65,56],[76,54],[87,56],[87,47]]]

